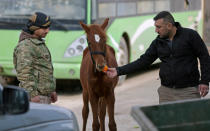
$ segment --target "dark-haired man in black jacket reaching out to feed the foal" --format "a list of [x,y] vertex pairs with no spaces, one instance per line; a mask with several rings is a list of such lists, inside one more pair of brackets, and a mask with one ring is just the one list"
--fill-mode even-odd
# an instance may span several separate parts
[[[181,27],[167,11],[158,13],[154,21],[158,36],[146,52],[132,63],[108,68],[107,76],[113,78],[141,70],[159,58],[160,103],[206,96],[209,91],[210,57],[199,34]],[[201,77],[197,58],[200,61]]]

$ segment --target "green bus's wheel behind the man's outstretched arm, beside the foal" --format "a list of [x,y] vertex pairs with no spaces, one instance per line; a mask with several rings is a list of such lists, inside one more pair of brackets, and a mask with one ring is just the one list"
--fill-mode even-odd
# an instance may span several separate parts
[[[119,51],[117,53],[117,64],[122,66],[128,64],[128,47],[125,39],[122,37],[120,39]],[[126,75],[119,77],[118,85],[122,84],[126,79]]]

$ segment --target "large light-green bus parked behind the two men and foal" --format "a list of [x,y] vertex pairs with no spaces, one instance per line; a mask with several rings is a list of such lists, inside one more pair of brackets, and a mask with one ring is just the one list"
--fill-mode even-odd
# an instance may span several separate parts
[[[147,8],[145,8],[147,7]],[[52,55],[54,76],[61,88],[79,81],[86,35],[79,25],[102,24],[110,18],[107,44],[116,51],[118,65],[139,58],[156,37],[154,15],[162,10],[172,12],[182,26],[202,33],[201,0],[1,0],[0,4],[0,75],[7,83],[15,81],[13,51],[28,17],[41,11],[52,19],[46,44]],[[159,62],[159,61],[156,61]],[[1,76],[0,76],[1,77]],[[125,80],[120,76],[119,83]]]

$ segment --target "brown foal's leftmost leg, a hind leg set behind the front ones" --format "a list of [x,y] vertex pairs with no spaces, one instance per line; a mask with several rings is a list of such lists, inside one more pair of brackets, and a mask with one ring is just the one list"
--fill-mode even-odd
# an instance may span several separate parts
[[89,114],[89,107],[88,107],[88,102],[89,102],[89,98],[88,98],[88,92],[86,90],[83,89],[83,108],[82,108],[82,118],[83,118],[83,131],[86,131],[86,124],[87,124],[87,118],[88,118],[88,114]]

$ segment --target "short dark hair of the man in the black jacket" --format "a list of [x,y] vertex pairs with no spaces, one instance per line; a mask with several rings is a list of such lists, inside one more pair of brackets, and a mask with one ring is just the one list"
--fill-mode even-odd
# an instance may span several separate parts
[[169,22],[175,25],[174,17],[168,11],[161,11],[153,18],[154,21],[159,20],[159,19],[163,19],[165,22]]

